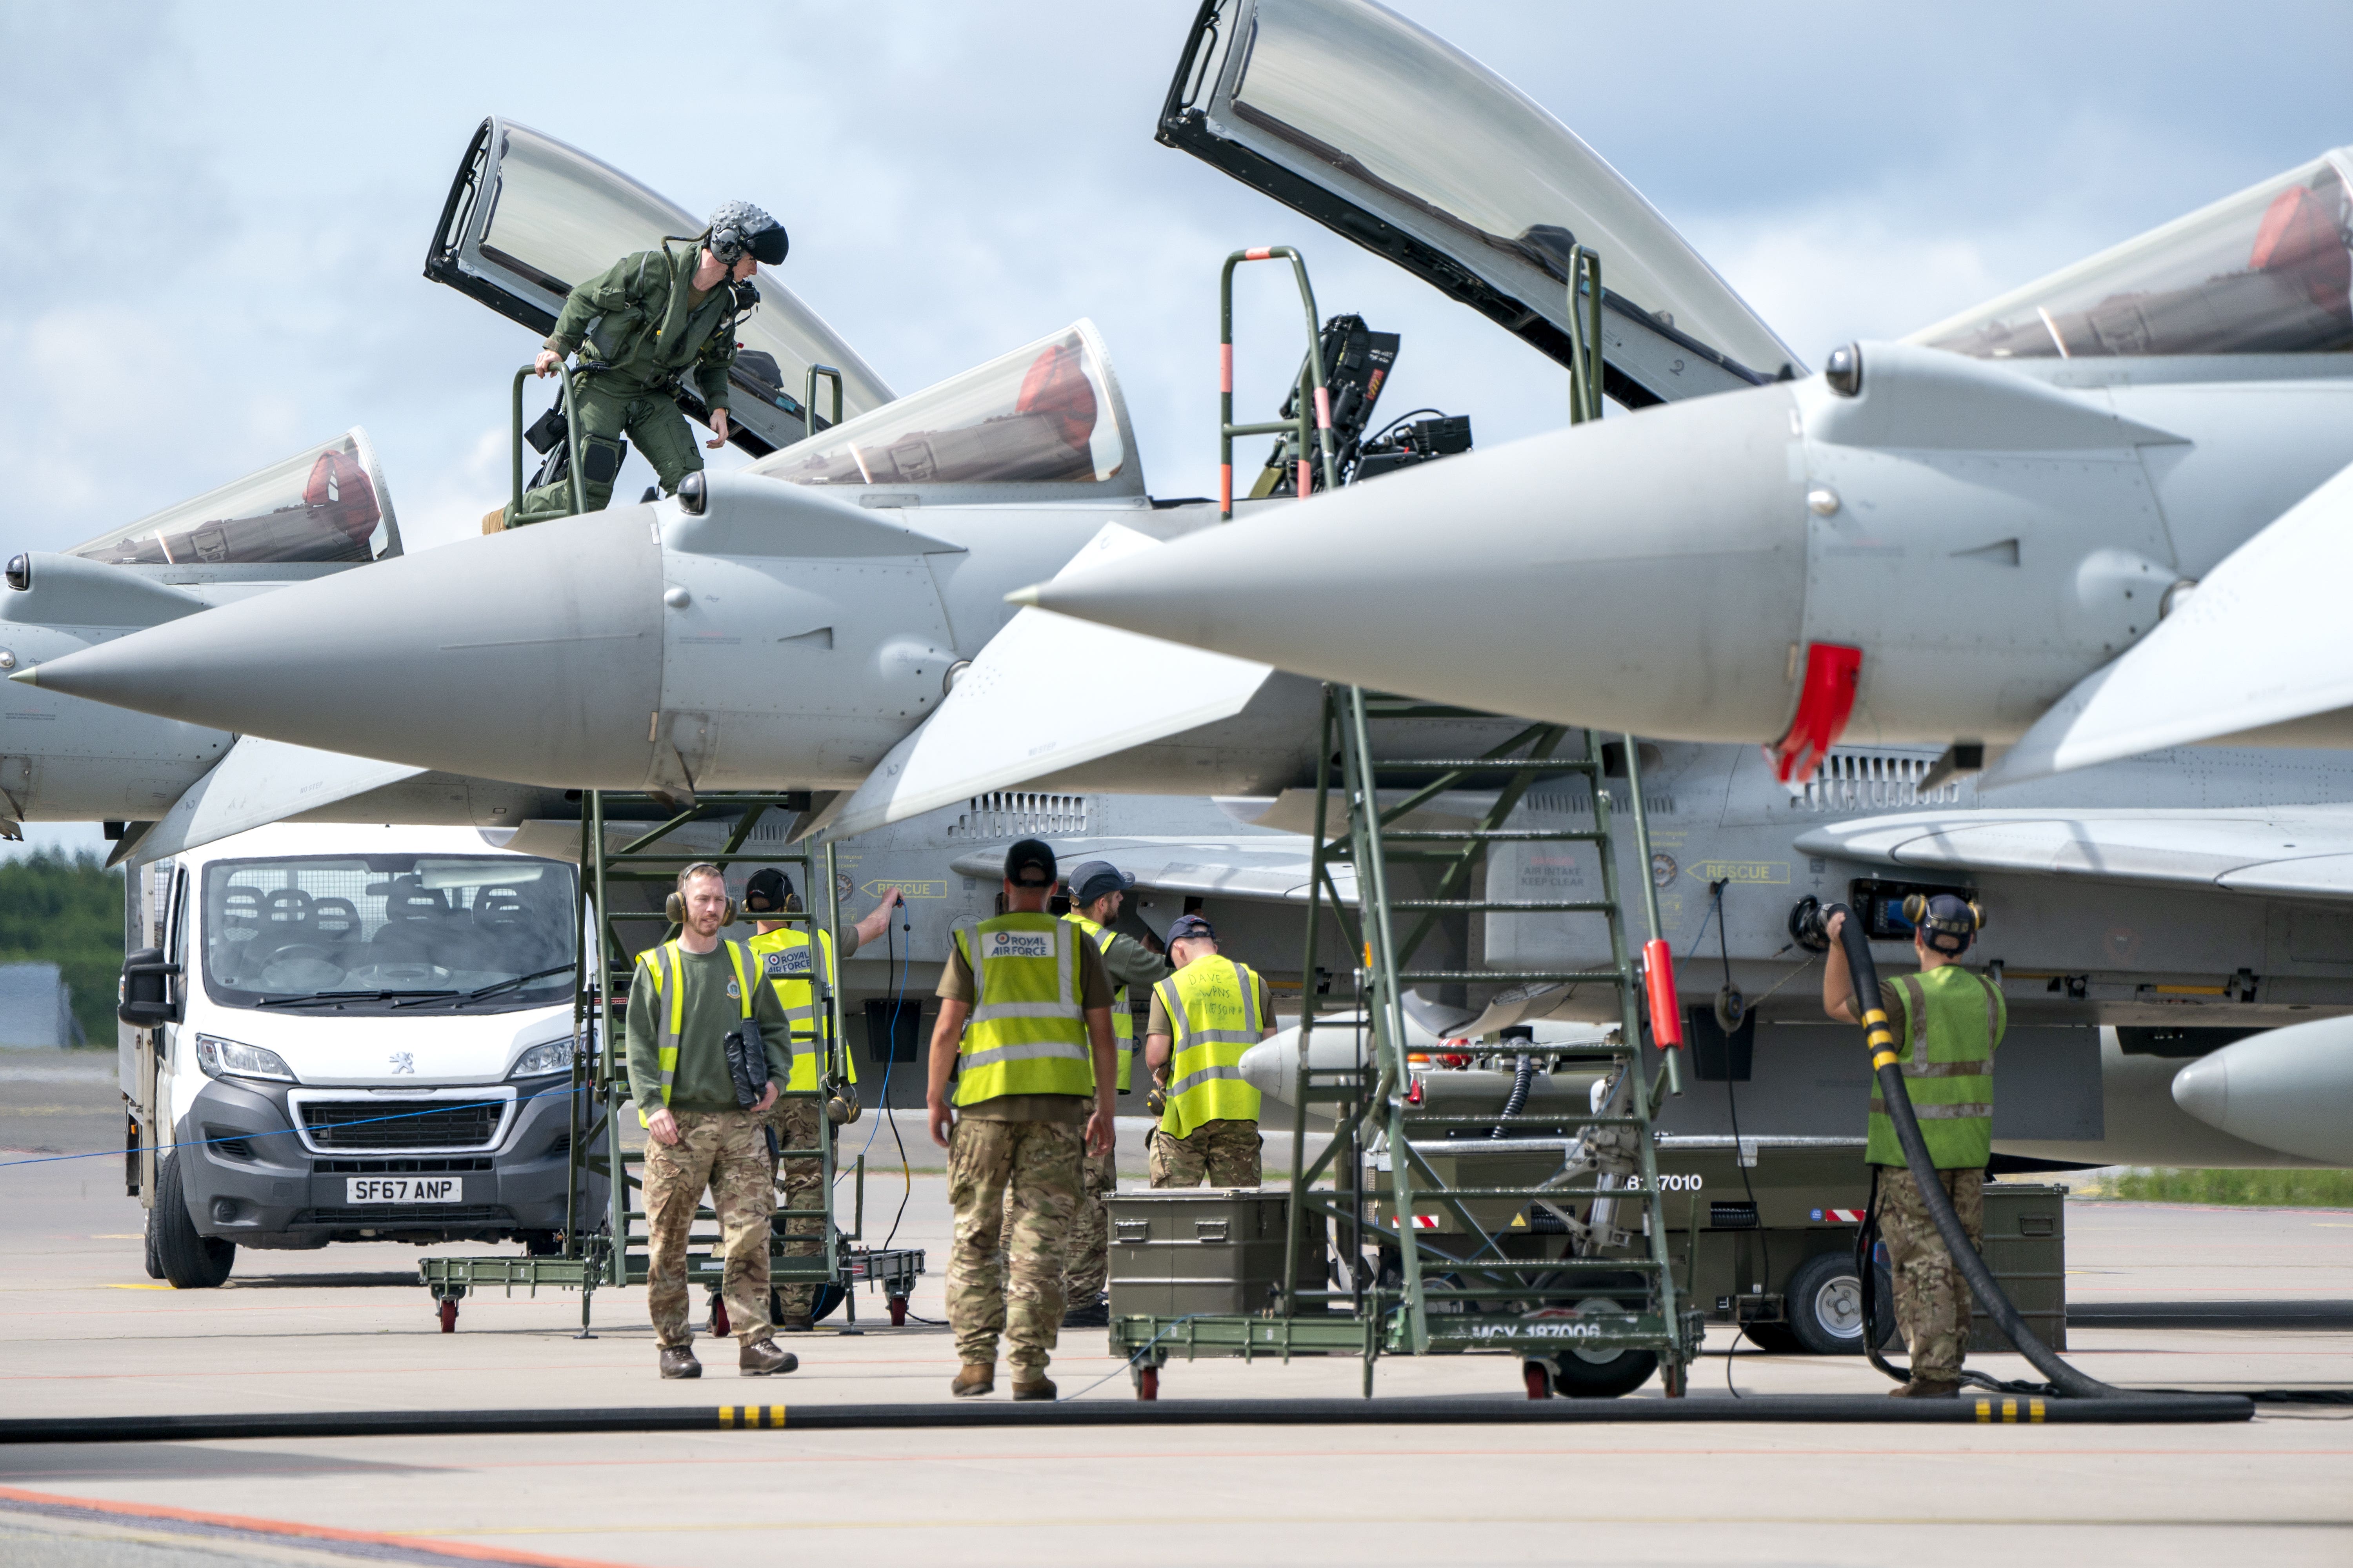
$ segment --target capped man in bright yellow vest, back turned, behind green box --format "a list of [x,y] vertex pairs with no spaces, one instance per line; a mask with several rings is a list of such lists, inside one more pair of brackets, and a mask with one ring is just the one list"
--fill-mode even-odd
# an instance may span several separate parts
[[1167,1100],[1151,1135],[1153,1187],[1257,1187],[1259,1091],[1242,1081],[1242,1053],[1275,1032],[1273,994],[1219,954],[1200,914],[1169,926],[1169,959],[1176,973],[1153,987],[1144,1025],[1144,1063]]

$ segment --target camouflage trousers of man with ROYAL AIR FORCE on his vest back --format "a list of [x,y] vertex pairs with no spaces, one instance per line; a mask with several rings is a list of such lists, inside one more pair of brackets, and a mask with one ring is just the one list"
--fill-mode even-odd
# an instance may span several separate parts
[[995,1366],[1002,1338],[1016,1373],[1045,1375],[1061,1333],[1061,1255],[1085,1147],[1075,1121],[958,1119],[951,1128],[948,1328],[965,1366]]

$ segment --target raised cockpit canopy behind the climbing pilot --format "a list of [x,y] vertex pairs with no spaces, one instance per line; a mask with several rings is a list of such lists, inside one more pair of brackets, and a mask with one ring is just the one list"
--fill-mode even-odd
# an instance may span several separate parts
[[[565,294],[621,256],[652,249],[664,237],[692,237],[704,221],[678,202],[647,190],[612,165],[553,136],[485,120],[466,146],[449,200],[442,205],[426,277],[471,294],[532,331],[548,331]],[[814,310],[769,273],[753,273],[760,308],[736,322],[741,353],[734,369],[732,423],[736,444],[760,456],[807,435],[807,376],[812,364],[842,376],[842,416],[892,400],[892,390]],[[682,402],[701,404],[694,393]],[[831,390],[819,390],[826,425]]]

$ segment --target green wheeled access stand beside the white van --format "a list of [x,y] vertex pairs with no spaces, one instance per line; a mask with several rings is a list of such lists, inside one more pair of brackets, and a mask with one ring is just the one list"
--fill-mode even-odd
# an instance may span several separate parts
[[[654,795],[621,795],[588,790],[581,797],[581,872],[588,896],[588,919],[579,943],[579,987],[574,992],[574,1053],[572,1053],[572,1128],[569,1128],[569,1225],[548,1255],[456,1255],[424,1258],[419,1274],[431,1291],[442,1333],[456,1328],[459,1302],[473,1291],[525,1291],[541,1288],[581,1293],[581,1333],[593,1338],[591,1312],[600,1288],[638,1286],[647,1279],[647,1241],[642,1208],[640,1150],[621,1145],[621,1117],[628,1107],[628,1063],[624,1048],[624,1016],[628,1011],[628,980],[635,971],[635,954],[645,947],[671,940],[678,926],[666,919],[664,896],[678,870],[694,860],[711,860],[722,867],[736,865],[791,865],[800,870],[800,886],[809,891],[809,907],[784,914],[786,924],[833,931],[840,924],[838,882],[833,846],[821,851],[791,849],[776,835],[774,846],[751,846],[753,830],[776,813],[779,825],[788,813],[807,806],[807,797],[774,792],[713,792],[692,804],[675,804]],[[621,813],[621,816],[609,816]],[[638,830],[638,832],[631,832]],[[619,844],[612,835],[628,835]],[[715,849],[711,844],[718,844]],[[624,926],[628,936],[624,936]],[[635,938],[635,940],[633,940]],[[649,938],[649,940],[647,940]],[[593,945],[593,952],[591,952]],[[824,1105],[847,1084],[847,1046],[842,1041],[842,1009],[833,985],[824,973],[816,983],[816,1018],[809,1032],[793,1032],[793,1051],[819,1053],[819,1086],[814,1091],[788,1091],[786,1098],[805,1098]],[[835,1124],[819,1117],[819,1138],[809,1150],[781,1150],[784,1159],[819,1159],[824,1192],[821,1208],[779,1208],[769,1234],[769,1284],[816,1286],[816,1314],[849,1307],[856,1321],[852,1288],[866,1284],[882,1291],[889,1305],[889,1321],[906,1319],[906,1298],[922,1274],[920,1248],[861,1251],[852,1241],[859,1227],[842,1229],[833,1218],[831,1194],[835,1192]],[[612,1180],[619,1173],[619,1180]],[[856,1171],[856,1206],[864,1218],[866,1173]],[[814,1220],[814,1237],[786,1237],[791,1220]],[[614,1246],[614,1237],[621,1239]],[[814,1253],[791,1251],[791,1244]],[[699,1208],[687,1239],[687,1284],[718,1291],[722,1262],[713,1258],[718,1244],[718,1215]],[[774,1305],[772,1305],[774,1312]],[[727,1333],[725,1309],[713,1314],[713,1333]]]

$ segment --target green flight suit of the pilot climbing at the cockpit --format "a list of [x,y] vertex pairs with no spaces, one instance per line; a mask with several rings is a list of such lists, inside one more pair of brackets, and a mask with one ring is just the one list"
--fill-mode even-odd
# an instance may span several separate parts
[[[572,289],[548,348],[560,355],[579,350],[579,444],[581,491],[591,512],[612,501],[612,477],[598,482],[600,461],[591,442],[607,449],[605,465],[616,470],[619,437],[628,435],[654,465],[661,494],[704,465],[687,416],[671,397],[685,376],[711,409],[727,407],[727,367],[734,364],[734,296],[725,284],[694,292],[694,268],[701,263],[701,240],[666,240],[659,249],[621,256],[602,275]],[[513,510],[513,508],[508,508]],[[558,480],[525,491],[522,515],[506,527],[572,515],[572,484]]]

